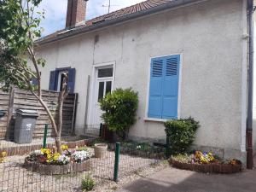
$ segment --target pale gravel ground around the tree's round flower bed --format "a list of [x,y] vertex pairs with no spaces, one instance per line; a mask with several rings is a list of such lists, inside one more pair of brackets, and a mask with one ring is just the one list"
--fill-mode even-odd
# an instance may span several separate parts
[[[90,148],[90,151],[93,151]],[[114,152],[108,151],[103,159],[90,159],[89,172],[67,174],[65,176],[46,176],[36,172],[29,172],[24,168],[25,156],[8,157],[6,162],[0,164],[0,192],[20,191],[81,191],[81,180],[91,175],[96,180],[95,191],[114,191],[124,183],[130,182],[140,175],[154,172],[161,166],[155,166],[158,160],[147,159],[136,155],[120,154],[119,183],[113,182]]]

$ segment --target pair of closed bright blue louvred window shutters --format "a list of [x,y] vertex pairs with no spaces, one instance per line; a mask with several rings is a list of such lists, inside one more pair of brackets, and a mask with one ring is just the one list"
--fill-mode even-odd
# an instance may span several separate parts
[[177,119],[179,64],[180,55],[151,60],[148,118]]

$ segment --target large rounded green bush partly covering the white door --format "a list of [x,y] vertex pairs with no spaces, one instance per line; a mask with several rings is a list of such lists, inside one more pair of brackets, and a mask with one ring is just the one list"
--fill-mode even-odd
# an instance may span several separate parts
[[117,89],[100,101],[102,119],[111,131],[127,131],[136,121],[137,92]]

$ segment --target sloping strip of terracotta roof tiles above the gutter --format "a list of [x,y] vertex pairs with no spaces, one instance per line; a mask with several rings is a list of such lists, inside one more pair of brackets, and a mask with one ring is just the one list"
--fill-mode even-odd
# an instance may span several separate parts
[[[145,9],[151,9],[151,8],[160,6],[165,3],[170,3],[172,1],[176,1],[176,0],[147,0],[142,3],[137,3],[135,5],[131,5],[130,7],[127,7],[124,9],[119,9],[119,10],[113,11],[107,15],[101,15],[101,16],[98,16],[91,20],[86,20],[85,25],[82,24],[82,25],[76,26],[74,28],[80,29],[80,28],[84,28],[86,26],[93,26],[97,22],[103,22],[105,20],[114,20],[114,19],[117,19],[117,18],[125,16],[125,15],[130,15],[130,14],[133,14],[133,13],[136,13],[139,11],[143,11]],[[44,38],[38,39],[38,41],[43,42],[46,39],[55,38],[56,36],[61,35],[61,33],[64,33],[64,32],[68,32],[68,29],[62,29],[60,31],[51,33],[51,34],[45,36]]]

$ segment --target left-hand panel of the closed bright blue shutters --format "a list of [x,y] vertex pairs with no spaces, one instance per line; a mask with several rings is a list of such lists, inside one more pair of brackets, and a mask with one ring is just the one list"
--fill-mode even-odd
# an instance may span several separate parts
[[148,99],[149,118],[161,118],[163,67],[164,61],[162,59],[152,59]]

